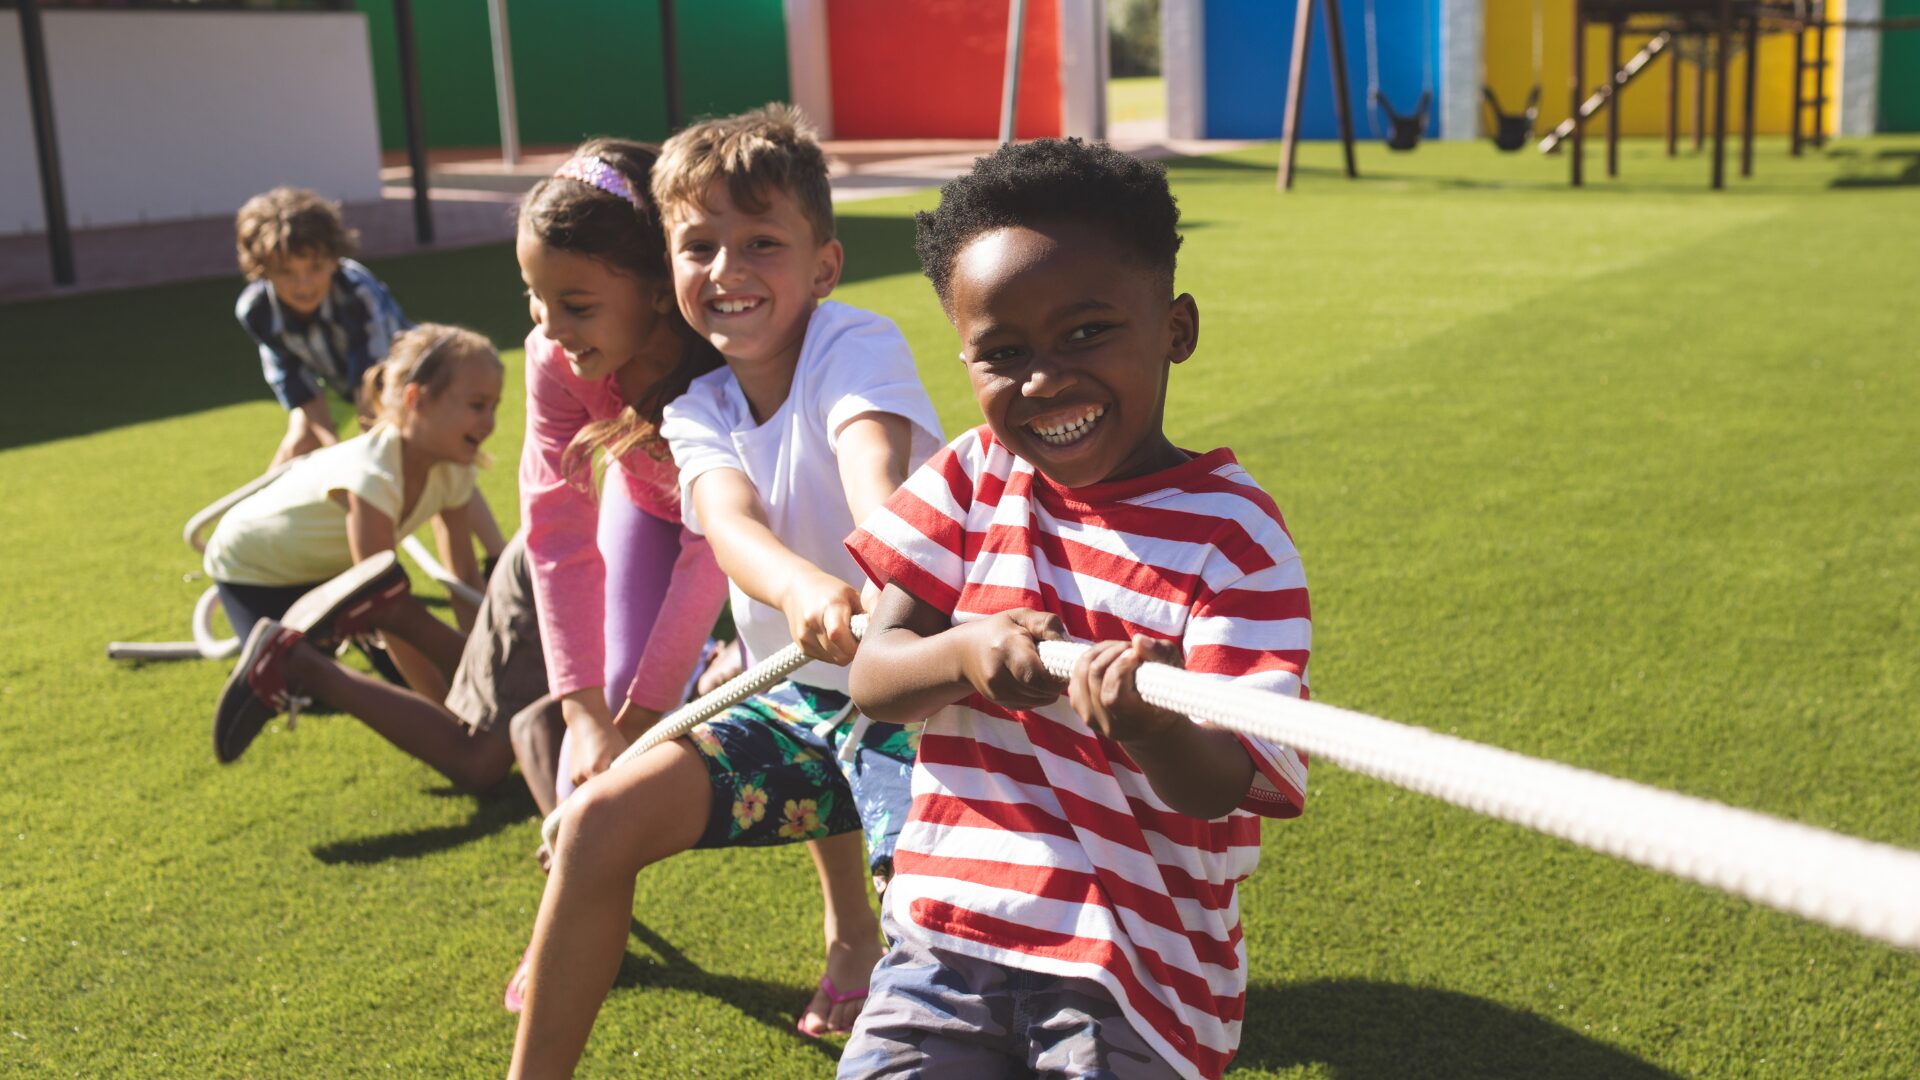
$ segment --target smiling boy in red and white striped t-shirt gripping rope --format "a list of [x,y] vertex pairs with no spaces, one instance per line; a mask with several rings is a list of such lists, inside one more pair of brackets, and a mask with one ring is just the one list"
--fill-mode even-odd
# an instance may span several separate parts
[[[1002,146],[920,215],[987,423],[849,538],[885,586],[854,701],[925,728],[841,1076],[1219,1076],[1238,1047],[1236,886],[1306,757],[1133,676],[1306,694],[1308,590],[1233,452],[1162,430],[1200,331],[1177,223],[1158,165],[1079,140]],[[1037,650],[1064,636],[1100,642],[1066,686]]]

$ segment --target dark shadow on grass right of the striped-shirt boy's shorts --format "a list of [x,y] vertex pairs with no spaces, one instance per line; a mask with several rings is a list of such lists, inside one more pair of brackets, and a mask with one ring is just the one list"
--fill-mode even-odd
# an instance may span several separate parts
[[1622,1049],[1494,1001],[1367,980],[1250,986],[1235,1065],[1325,1065],[1338,1080],[1672,1076]]

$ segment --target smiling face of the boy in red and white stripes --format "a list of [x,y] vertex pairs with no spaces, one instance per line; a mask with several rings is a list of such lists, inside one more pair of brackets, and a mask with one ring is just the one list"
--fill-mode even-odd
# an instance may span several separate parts
[[1056,484],[1187,459],[1162,413],[1200,311],[1167,300],[1164,277],[1110,234],[1073,221],[985,231],[954,259],[947,315],[987,427]]

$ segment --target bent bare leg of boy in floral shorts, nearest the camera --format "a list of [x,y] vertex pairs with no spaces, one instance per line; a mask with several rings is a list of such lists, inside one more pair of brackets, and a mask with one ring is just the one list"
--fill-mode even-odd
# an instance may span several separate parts
[[626,953],[634,876],[693,847],[712,786],[685,740],[601,773],[566,799],[534,922],[509,1076],[570,1076]]

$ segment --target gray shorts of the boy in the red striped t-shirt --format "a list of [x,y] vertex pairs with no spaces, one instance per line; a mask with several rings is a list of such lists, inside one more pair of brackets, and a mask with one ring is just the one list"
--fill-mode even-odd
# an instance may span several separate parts
[[987,1080],[1179,1072],[1127,1022],[1104,986],[904,942],[887,951],[841,1053],[839,1078]]

